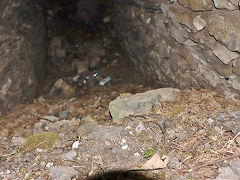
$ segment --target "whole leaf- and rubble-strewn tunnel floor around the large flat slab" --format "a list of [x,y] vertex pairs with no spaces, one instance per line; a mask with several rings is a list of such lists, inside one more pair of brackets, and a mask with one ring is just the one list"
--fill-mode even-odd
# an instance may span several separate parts
[[133,168],[152,179],[211,179],[239,156],[240,104],[216,92],[181,91],[174,102],[113,122],[111,101],[160,86],[126,59],[111,29],[93,33],[50,34],[42,95],[0,118],[1,178],[82,179]]

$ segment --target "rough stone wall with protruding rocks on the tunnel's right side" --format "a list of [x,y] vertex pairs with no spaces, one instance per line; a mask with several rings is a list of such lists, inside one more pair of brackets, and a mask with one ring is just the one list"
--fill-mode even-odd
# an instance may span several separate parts
[[239,0],[114,0],[113,22],[131,60],[178,88],[239,99]]

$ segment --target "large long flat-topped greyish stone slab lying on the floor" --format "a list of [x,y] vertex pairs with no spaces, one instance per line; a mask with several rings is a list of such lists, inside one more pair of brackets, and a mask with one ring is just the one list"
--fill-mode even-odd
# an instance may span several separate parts
[[118,97],[109,104],[109,111],[113,121],[123,117],[140,113],[152,108],[158,102],[174,102],[180,92],[179,89],[161,88],[138,93],[130,97]]

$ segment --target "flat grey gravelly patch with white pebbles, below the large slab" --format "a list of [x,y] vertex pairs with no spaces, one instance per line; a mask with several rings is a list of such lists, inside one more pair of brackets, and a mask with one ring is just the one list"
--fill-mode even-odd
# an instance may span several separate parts
[[96,174],[96,167],[111,171],[143,165],[147,161],[143,153],[148,147],[156,147],[163,136],[157,125],[153,129],[158,133],[154,133],[147,123],[143,124],[146,125],[145,130],[138,133],[136,128],[139,123],[126,119],[125,125],[117,127],[96,125],[76,149],[83,167],[80,168],[82,174]]

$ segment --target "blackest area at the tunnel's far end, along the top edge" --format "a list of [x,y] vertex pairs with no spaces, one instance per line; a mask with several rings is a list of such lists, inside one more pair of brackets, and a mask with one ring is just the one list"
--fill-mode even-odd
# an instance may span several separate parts
[[78,27],[83,31],[97,31],[110,12],[108,0],[52,0],[47,3],[48,10],[58,9],[53,15],[57,29]]

